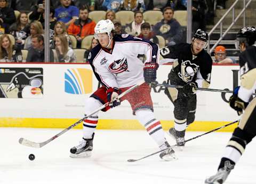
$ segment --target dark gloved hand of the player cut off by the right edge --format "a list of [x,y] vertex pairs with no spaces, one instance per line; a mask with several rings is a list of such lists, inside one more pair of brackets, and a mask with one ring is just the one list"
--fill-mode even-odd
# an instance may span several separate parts
[[233,95],[229,98],[228,103],[231,108],[237,111],[238,115],[241,115],[243,113],[243,110],[247,107],[248,102],[245,102],[238,97],[239,88],[240,86],[235,87]]

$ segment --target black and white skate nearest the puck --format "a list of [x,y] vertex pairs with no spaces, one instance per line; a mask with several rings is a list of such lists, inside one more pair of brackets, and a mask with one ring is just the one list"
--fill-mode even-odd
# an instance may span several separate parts
[[94,133],[92,134],[91,139],[82,139],[79,142],[79,145],[70,149],[70,157],[71,158],[80,158],[80,157],[90,157],[92,154],[93,148],[93,137]]

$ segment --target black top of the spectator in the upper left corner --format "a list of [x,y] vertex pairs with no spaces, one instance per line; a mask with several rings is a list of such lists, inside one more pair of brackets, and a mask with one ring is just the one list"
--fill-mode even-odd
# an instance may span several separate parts
[[8,33],[10,25],[16,21],[13,9],[10,7],[0,9],[0,18],[4,21],[3,26],[5,28],[5,33]]

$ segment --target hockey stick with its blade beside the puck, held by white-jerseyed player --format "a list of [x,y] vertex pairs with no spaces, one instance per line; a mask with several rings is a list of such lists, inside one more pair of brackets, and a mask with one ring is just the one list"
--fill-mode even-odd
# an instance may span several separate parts
[[[131,92],[132,90],[134,90],[135,88],[139,87],[141,84],[145,83],[143,82],[139,82],[138,84],[130,87],[128,90],[124,91],[123,93],[121,93],[120,95],[118,95],[118,97],[116,97],[115,99],[120,99],[122,98],[125,94]],[[75,127],[76,125],[78,125],[79,123],[82,123],[84,121],[84,119],[87,119],[88,117],[90,117],[91,115],[97,113],[98,111],[102,110],[103,108],[107,107],[109,105],[109,102],[105,103],[104,105],[102,105],[101,107],[99,107],[98,109],[95,109],[92,113],[90,113],[89,115],[86,115],[83,119],[80,119],[78,122],[74,123],[73,125],[70,125],[69,127],[67,127],[66,129],[62,130],[60,133],[54,135],[53,137],[51,137],[50,139],[44,141],[44,142],[33,142],[30,141],[28,139],[25,138],[20,138],[19,139],[19,143],[21,145],[24,146],[28,146],[28,147],[33,147],[33,148],[42,148],[44,145],[46,145],[47,143],[53,141],[54,139],[60,137],[60,135],[62,135],[63,133],[67,132],[68,130],[72,129],[73,127]]]

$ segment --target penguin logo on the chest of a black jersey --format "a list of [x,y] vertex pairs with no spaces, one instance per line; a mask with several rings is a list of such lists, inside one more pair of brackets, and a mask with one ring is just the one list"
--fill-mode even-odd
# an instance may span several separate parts
[[191,63],[189,60],[182,61],[181,66],[180,66],[179,77],[186,83],[190,82],[190,81],[192,81],[198,68],[199,68],[199,66],[197,66],[194,63]]

